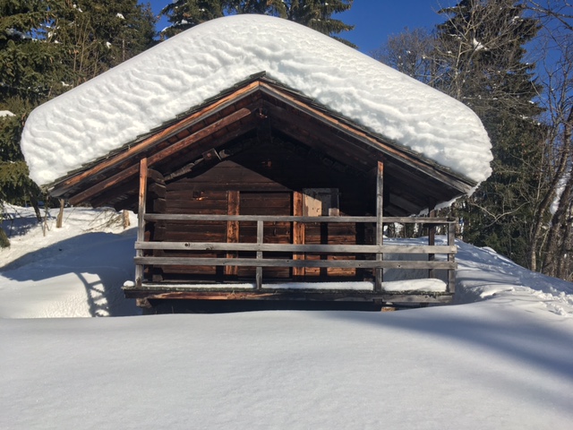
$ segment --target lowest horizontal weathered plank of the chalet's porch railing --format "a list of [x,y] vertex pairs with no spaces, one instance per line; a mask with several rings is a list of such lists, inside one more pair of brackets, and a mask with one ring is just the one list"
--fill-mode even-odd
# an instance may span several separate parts
[[180,266],[250,266],[250,267],[355,267],[384,269],[456,269],[456,262],[410,262],[373,260],[292,260],[261,258],[190,258],[190,257],[135,257],[136,264]]

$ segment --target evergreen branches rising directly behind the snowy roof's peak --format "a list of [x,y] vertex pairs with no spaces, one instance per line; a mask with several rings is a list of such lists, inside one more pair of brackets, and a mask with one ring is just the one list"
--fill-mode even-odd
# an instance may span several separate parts
[[227,14],[259,13],[298,22],[353,46],[336,35],[354,26],[332,18],[347,11],[354,0],[176,0],[161,11],[171,26],[163,31],[171,37],[201,22]]

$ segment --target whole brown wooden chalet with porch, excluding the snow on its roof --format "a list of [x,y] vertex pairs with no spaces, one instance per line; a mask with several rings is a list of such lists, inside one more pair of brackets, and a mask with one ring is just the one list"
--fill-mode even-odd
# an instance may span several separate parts
[[[136,277],[124,294],[140,305],[444,303],[455,221],[410,215],[473,186],[260,73],[56,180],[51,194],[138,213]],[[397,222],[423,223],[428,244],[385,245],[383,226]],[[436,228],[448,245],[434,245]],[[447,288],[386,291],[384,271],[396,269],[440,276]]]

